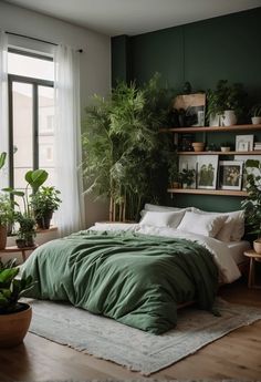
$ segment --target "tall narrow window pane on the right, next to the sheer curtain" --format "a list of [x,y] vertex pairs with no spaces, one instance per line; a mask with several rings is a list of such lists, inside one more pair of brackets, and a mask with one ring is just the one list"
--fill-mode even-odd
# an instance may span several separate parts
[[39,167],[49,173],[45,185],[55,185],[54,90],[39,86]]

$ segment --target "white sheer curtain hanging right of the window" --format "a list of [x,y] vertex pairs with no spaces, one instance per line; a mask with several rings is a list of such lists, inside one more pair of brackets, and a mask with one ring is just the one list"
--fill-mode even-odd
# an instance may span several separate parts
[[59,45],[54,52],[55,168],[63,202],[55,216],[61,236],[84,228],[79,54],[67,45]]

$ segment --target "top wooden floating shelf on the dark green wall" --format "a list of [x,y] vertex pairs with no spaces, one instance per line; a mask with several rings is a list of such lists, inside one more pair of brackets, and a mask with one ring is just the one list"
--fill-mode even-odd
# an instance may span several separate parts
[[261,130],[259,125],[233,125],[233,126],[191,126],[191,127],[169,127],[160,128],[160,133],[202,133],[202,132],[240,132],[240,131]]

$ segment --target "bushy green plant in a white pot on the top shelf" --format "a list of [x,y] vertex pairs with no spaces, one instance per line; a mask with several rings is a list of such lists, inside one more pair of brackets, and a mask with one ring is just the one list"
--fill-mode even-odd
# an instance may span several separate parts
[[246,93],[239,83],[219,80],[215,90],[207,92],[207,117],[210,126],[236,125],[242,114]]

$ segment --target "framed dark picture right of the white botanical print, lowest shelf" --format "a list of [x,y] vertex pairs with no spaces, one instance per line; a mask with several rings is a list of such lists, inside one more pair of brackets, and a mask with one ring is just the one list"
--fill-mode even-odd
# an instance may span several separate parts
[[242,161],[219,162],[219,186],[221,189],[241,189],[243,174]]

